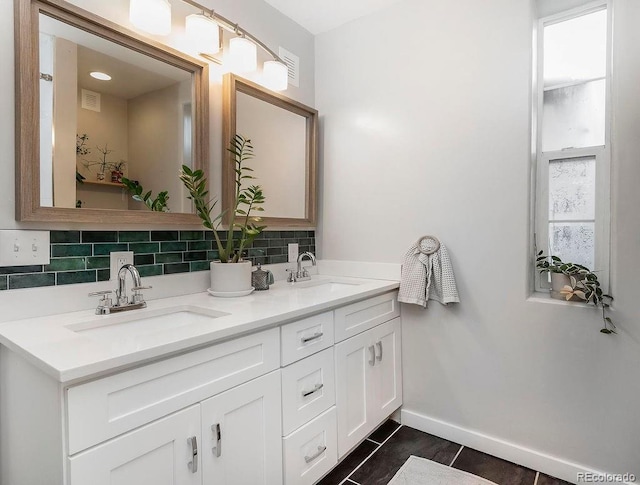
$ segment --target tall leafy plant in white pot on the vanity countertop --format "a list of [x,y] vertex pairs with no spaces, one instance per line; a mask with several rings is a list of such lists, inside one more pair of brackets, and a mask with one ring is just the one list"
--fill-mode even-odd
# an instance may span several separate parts
[[253,216],[252,213],[264,210],[262,204],[265,198],[259,185],[243,187],[245,180],[255,178],[251,175],[253,170],[245,165],[254,157],[251,140],[237,134],[227,150],[233,155],[236,189],[233,207],[227,210],[229,227],[226,234],[222,230],[219,231],[219,228],[227,211],[212,216],[218,200],[209,198],[204,172],[191,170],[183,165],[180,180],[189,192],[188,199],[193,201],[202,225],[212,231],[216,242],[220,259],[213,261],[210,266],[212,292],[243,293],[251,290],[251,262],[242,259],[243,252],[266,227],[258,226],[256,223],[259,223],[261,218]]

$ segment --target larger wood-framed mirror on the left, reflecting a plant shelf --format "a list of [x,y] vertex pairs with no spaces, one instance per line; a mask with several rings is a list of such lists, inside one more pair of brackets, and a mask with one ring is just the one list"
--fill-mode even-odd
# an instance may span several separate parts
[[208,174],[208,64],[62,0],[14,5],[16,219],[199,225],[178,172]]

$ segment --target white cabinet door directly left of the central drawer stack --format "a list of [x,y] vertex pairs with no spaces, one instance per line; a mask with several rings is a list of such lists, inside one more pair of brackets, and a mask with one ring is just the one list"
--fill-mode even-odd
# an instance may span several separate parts
[[203,483],[282,484],[280,371],[201,403]]

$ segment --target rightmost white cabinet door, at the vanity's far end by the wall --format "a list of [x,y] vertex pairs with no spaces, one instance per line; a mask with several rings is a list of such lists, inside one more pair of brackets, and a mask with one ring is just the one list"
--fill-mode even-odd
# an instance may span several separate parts
[[371,417],[377,425],[402,405],[400,319],[379,325],[371,332],[376,363],[370,369],[374,394],[370,404]]

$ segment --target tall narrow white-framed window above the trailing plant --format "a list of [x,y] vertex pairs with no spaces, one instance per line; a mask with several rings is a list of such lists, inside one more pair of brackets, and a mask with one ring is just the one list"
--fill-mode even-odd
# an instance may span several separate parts
[[[535,140],[537,250],[596,271],[605,288],[610,226],[608,26],[606,3],[540,20]],[[543,275],[536,289],[546,287]]]

